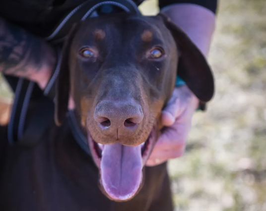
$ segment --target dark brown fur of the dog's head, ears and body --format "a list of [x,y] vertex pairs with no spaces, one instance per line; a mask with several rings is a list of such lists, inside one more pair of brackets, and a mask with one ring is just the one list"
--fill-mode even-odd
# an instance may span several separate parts
[[[97,43],[93,32],[99,28],[106,37]],[[150,42],[141,41],[144,30],[152,31]],[[166,56],[145,57],[154,45],[164,48]],[[79,54],[83,46],[97,48],[99,54],[84,59]],[[97,128],[95,108],[106,99],[117,103],[134,99],[142,107],[143,120],[130,137],[118,141],[140,144],[171,97],[176,74],[199,100],[211,99],[213,78],[204,56],[162,15],[118,14],[76,24],[64,46],[56,90],[55,117],[61,126],[51,122],[32,148],[9,146],[6,128],[0,127],[0,211],[173,211],[166,163],[143,167],[143,186],[132,200],[109,200],[98,186],[99,169],[76,143],[65,116],[71,92],[84,135],[89,131],[99,143],[114,143],[117,140]]]

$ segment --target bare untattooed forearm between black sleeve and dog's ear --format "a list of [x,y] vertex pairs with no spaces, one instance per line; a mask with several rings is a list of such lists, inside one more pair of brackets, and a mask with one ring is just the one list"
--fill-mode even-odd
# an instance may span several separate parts
[[183,29],[199,50],[207,56],[215,29],[215,14],[191,3],[169,5],[161,10]]

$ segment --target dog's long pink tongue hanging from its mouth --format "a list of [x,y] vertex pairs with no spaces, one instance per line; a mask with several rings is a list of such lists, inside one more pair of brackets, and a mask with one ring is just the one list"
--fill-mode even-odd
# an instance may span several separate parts
[[106,193],[115,200],[133,197],[142,180],[141,146],[105,145],[101,179]]

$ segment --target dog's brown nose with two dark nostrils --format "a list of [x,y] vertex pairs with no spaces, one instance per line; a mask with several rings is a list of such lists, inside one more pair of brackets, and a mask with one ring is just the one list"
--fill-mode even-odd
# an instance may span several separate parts
[[102,101],[94,112],[94,119],[105,135],[131,135],[143,119],[141,106],[135,102]]

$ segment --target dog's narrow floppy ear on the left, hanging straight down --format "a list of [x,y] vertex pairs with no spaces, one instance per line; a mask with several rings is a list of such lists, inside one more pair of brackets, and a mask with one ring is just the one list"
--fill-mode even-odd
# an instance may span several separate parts
[[78,26],[78,23],[73,25],[63,45],[62,60],[56,82],[55,122],[57,126],[60,126],[62,124],[68,111],[68,100],[70,92],[69,54],[70,46]]

